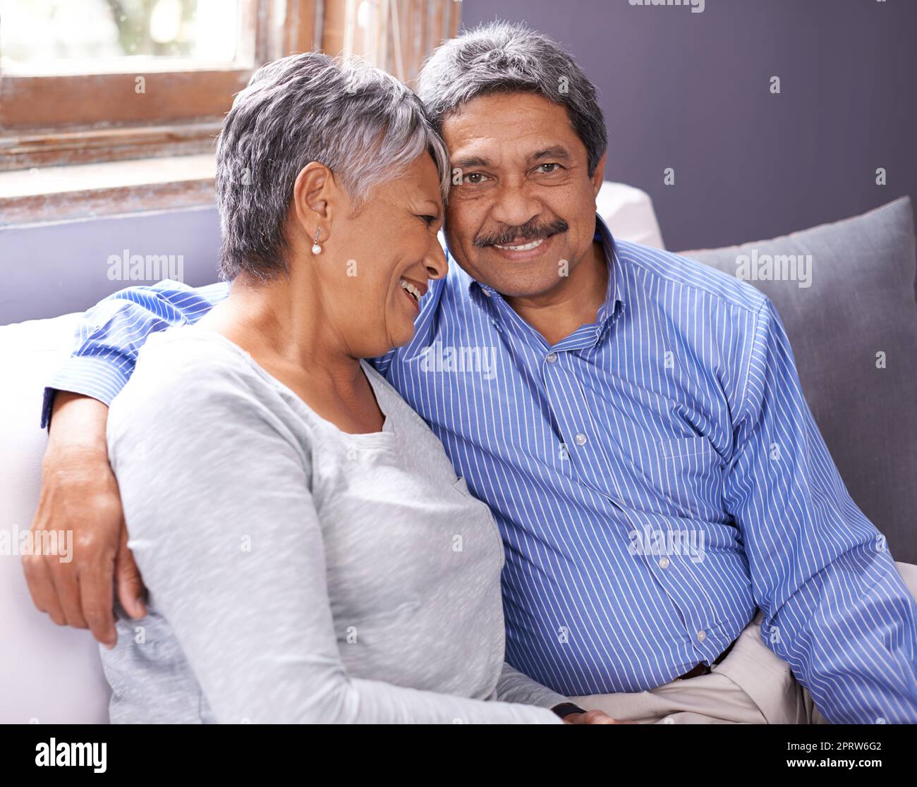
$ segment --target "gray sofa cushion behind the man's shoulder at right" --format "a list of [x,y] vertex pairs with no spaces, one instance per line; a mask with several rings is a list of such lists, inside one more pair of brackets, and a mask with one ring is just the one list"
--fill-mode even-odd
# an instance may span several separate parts
[[[917,562],[917,254],[910,198],[785,238],[681,253],[746,279],[774,302],[847,490],[885,534],[895,559]],[[877,365],[879,352],[885,368]]]

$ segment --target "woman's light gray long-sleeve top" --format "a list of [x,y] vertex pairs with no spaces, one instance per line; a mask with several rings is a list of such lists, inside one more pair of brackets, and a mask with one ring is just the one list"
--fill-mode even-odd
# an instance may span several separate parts
[[150,337],[108,450],[149,615],[100,648],[113,722],[540,723],[503,662],[503,543],[378,372],[350,435],[200,327]]

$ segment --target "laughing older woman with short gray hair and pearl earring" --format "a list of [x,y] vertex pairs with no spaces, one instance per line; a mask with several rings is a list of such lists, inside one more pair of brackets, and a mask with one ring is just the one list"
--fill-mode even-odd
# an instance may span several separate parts
[[447,271],[420,103],[296,55],[238,95],[217,158],[230,294],[149,338],[108,422],[149,588],[102,648],[112,720],[560,723],[503,663],[490,511],[361,360]]

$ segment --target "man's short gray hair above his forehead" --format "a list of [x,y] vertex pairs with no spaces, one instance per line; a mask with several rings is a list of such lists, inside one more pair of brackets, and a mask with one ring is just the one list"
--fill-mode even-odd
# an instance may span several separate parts
[[590,177],[608,147],[595,86],[560,45],[521,24],[492,22],[451,39],[425,62],[417,78],[437,131],[472,98],[534,93],[564,106],[589,154]]

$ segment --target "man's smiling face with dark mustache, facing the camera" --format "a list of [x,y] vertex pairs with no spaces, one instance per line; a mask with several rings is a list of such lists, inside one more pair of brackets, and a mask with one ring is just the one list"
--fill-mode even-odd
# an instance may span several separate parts
[[[550,295],[591,249],[595,195],[567,110],[536,94],[472,99],[443,125],[453,172],[446,238],[473,278],[509,297]],[[455,183],[455,180],[453,180]]]

